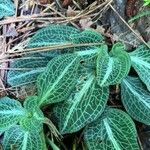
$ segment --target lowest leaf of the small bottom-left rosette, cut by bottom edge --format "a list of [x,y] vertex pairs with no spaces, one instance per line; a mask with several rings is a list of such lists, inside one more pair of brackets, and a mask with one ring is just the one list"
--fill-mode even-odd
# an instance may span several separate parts
[[44,150],[45,143],[39,132],[29,132],[20,126],[14,126],[4,134],[3,149]]

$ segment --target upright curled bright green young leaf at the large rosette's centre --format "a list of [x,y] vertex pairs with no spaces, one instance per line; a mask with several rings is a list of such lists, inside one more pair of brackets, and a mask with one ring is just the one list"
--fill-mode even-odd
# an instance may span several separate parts
[[124,50],[124,45],[116,43],[108,54],[107,45],[100,47],[97,58],[97,81],[100,86],[121,83],[127,76],[131,66],[130,57]]

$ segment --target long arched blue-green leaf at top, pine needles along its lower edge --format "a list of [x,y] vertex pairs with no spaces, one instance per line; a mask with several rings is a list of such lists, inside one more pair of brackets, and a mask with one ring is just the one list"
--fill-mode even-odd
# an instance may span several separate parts
[[30,40],[28,47],[41,47],[69,43],[71,34],[79,33],[76,28],[65,25],[50,25],[39,30]]

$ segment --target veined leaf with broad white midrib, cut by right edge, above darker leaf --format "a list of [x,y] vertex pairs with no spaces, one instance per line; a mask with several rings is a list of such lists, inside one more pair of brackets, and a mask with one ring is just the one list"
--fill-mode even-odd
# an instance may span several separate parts
[[132,66],[150,91],[150,49],[140,46],[130,53],[130,57]]

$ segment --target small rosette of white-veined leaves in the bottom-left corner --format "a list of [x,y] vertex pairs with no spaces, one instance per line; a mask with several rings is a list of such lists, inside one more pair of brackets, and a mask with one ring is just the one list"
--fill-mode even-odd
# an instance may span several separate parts
[[45,148],[43,142],[44,115],[37,107],[36,97],[29,97],[24,107],[17,100],[0,99],[0,131],[5,132],[3,148],[31,150]]

